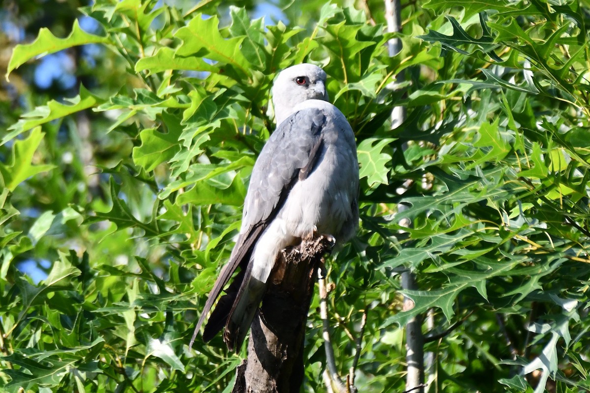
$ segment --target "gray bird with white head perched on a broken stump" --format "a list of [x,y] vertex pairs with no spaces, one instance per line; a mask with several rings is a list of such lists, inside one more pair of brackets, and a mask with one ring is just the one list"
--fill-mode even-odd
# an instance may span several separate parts
[[342,112],[327,102],[326,72],[312,64],[294,65],[278,74],[272,93],[277,129],[254,164],[240,235],[191,345],[238,266],[240,273],[203,332],[209,341],[225,326],[230,351],[241,347],[281,250],[316,233],[332,235],[336,246],[342,245],[358,226],[355,135]]

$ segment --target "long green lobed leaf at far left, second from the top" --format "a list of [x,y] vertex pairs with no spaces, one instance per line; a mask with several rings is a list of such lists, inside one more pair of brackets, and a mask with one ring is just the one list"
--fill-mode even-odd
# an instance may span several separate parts
[[65,102],[66,104],[61,104],[58,101],[51,100],[47,105],[37,107],[22,115],[21,120],[8,127],[8,130],[12,131],[2,138],[0,146],[19,134],[31,130],[31,128],[41,126],[41,124],[48,123],[58,118],[63,118],[85,109],[96,107],[103,103],[104,100],[90,93],[90,91],[86,90],[83,85],[80,85],[80,94],[74,98],[66,98]]

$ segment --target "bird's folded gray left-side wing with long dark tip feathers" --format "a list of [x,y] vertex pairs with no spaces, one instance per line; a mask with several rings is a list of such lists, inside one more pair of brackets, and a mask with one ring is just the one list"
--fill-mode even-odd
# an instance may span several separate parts
[[[195,335],[238,266],[241,266],[241,272],[235,277],[234,282],[209,317],[203,333],[205,341],[213,338],[223,328],[233,311],[235,300],[244,292],[243,284],[249,281],[250,275],[248,263],[258,237],[276,216],[293,184],[304,180],[313,170],[320,156],[321,133],[325,124],[326,116],[321,110],[298,111],[283,121],[264,145],[250,178],[250,186],[244,201],[240,236],[230,261],[222,268],[209,293],[201,318],[196,325]],[[234,348],[239,348],[241,342],[235,344],[237,345]]]

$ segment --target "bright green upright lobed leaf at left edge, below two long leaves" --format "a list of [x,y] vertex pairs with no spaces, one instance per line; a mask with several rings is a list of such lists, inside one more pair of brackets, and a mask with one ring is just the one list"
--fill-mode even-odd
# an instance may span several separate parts
[[41,127],[31,131],[30,136],[23,140],[17,140],[12,147],[9,163],[0,163],[0,176],[7,189],[14,191],[18,184],[35,174],[54,169],[54,165],[33,165],[33,155],[39,147],[45,134],[41,133]]

